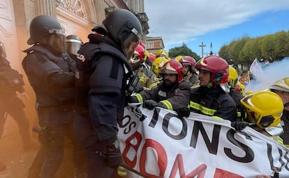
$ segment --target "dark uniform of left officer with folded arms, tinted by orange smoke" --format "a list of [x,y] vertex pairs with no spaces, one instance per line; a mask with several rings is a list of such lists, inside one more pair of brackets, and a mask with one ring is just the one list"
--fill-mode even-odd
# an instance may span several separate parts
[[[40,177],[54,177],[64,158],[64,138],[67,136],[73,143],[75,169],[80,170],[83,166],[80,156],[83,155],[73,135],[75,62],[66,53],[56,56],[41,45],[24,52],[27,56],[22,67],[36,93],[42,128],[39,134],[42,146],[31,167],[42,165]],[[42,163],[43,152],[45,160]]]

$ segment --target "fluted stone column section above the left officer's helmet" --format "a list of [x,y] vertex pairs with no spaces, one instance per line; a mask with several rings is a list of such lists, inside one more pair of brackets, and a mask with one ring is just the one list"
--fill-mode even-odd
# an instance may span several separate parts
[[35,8],[36,15],[49,15],[51,17],[57,17],[55,0],[36,0]]

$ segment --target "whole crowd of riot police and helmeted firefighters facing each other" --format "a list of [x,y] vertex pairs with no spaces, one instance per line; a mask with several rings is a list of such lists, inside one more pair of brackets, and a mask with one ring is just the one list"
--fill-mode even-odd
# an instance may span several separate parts
[[[142,26],[128,10],[110,13],[86,43],[66,36],[59,21],[46,15],[35,17],[29,31],[31,47],[24,50],[22,67],[36,95],[40,148],[28,178],[56,175],[66,139],[73,147],[75,178],[125,176],[117,124],[129,103],[166,108],[179,117],[193,112],[229,120],[238,131],[252,127],[289,145],[289,77],[245,94],[238,89],[237,70],[219,56],[196,61],[170,58],[165,49],[149,54]],[[19,124],[23,149],[29,149],[29,122],[15,94],[27,97],[22,75],[10,67],[1,43],[0,52],[0,85],[7,88],[0,97],[0,136],[10,115]],[[281,131],[272,133],[274,128]],[[272,170],[278,177],[278,168]]]

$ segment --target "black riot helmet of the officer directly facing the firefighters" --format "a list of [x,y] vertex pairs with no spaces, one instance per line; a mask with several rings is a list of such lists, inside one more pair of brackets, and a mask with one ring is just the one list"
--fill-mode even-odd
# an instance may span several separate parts
[[138,17],[131,11],[117,9],[108,14],[103,25],[96,26],[92,31],[108,31],[110,38],[121,45],[126,58],[131,58],[142,38],[142,26]]

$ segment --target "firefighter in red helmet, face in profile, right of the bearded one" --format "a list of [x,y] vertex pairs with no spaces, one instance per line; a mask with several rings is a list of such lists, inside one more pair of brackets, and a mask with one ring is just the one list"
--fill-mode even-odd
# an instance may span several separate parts
[[221,84],[228,82],[228,63],[219,56],[207,56],[199,60],[195,68],[199,70],[200,86],[191,89],[190,108],[175,110],[178,115],[188,117],[192,111],[216,119],[235,121],[235,102],[221,88]]

